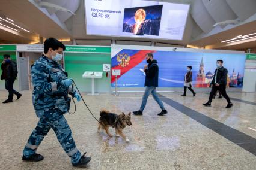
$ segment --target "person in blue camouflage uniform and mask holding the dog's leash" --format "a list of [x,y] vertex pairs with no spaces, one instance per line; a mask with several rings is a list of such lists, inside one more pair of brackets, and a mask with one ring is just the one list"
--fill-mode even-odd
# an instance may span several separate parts
[[32,101],[39,118],[23,150],[22,160],[37,162],[44,157],[37,154],[37,148],[50,129],[55,132],[59,143],[71,158],[73,166],[85,167],[91,157],[81,154],[76,148],[69,124],[64,113],[69,110],[69,95],[79,102],[81,97],[72,92],[72,80],[67,78],[58,62],[62,60],[65,45],[55,38],[44,41],[44,54],[31,66],[32,84],[34,86]]

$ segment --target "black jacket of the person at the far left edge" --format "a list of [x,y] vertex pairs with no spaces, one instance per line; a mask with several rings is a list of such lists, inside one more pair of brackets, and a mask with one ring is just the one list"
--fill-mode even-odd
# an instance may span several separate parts
[[17,78],[17,65],[11,60],[10,63],[2,63],[1,65],[2,75],[1,80],[15,80]]

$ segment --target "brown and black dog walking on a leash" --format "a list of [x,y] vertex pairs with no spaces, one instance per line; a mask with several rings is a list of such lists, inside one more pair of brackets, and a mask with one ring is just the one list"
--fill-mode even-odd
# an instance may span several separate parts
[[126,126],[132,125],[132,122],[130,121],[131,113],[117,115],[115,113],[110,113],[108,110],[100,110],[100,120],[99,120],[99,126],[98,126],[98,132],[100,132],[100,129],[104,129],[109,137],[112,137],[111,133],[109,133],[109,127],[115,128],[115,136],[119,137],[122,136],[126,142],[129,142],[130,140],[124,135],[123,129],[126,128]]

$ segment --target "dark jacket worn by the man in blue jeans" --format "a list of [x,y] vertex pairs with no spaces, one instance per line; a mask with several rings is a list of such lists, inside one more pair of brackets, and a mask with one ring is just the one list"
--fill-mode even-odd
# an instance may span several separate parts
[[148,63],[148,68],[145,69],[145,74],[146,74],[145,86],[158,87],[158,72],[159,72],[159,68],[157,65],[157,60],[152,60],[150,63]]

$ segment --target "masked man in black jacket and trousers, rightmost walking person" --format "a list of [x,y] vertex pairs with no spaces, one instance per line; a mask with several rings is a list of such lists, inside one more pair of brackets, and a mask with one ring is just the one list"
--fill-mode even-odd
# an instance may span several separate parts
[[227,74],[228,70],[224,68],[223,60],[217,60],[217,69],[215,70],[215,74],[213,76],[212,80],[212,90],[209,96],[209,101],[206,102],[205,106],[211,106],[211,102],[213,99],[213,96],[215,96],[215,93],[219,90],[221,92],[222,96],[227,100],[228,105],[226,108],[231,108],[233,104],[230,101],[230,98],[228,97],[226,93],[226,84],[227,84]]

